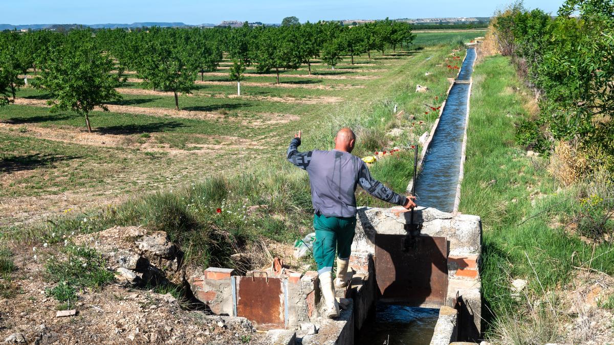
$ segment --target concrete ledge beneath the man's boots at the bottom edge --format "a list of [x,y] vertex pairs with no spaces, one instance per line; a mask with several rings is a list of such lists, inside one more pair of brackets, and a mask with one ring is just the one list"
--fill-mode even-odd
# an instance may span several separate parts
[[336,319],[322,319],[315,335],[303,337],[303,345],[353,345],[354,344],[354,309],[353,303],[341,311]]

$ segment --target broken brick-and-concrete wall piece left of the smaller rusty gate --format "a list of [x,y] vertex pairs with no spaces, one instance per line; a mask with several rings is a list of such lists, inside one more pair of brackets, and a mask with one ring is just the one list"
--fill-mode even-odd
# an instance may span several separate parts
[[194,297],[213,314],[236,316],[231,282],[233,273],[233,269],[209,267],[202,276],[190,277],[188,282]]

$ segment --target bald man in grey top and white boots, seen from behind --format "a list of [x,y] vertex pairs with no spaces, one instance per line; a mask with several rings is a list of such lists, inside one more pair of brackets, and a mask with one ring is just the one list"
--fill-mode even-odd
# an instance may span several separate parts
[[413,196],[398,195],[373,179],[365,162],[351,154],[356,144],[356,135],[351,129],[341,128],[335,137],[335,149],[330,151],[298,152],[300,144],[299,131],[288,147],[288,160],[309,174],[316,231],[313,256],[326,303],[326,316],[338,317],[332,269],[337,249],[335,286],[345,287],[356,228],[356,186],[360,184],[370,195],[406,209],[413,209],[416,204]]

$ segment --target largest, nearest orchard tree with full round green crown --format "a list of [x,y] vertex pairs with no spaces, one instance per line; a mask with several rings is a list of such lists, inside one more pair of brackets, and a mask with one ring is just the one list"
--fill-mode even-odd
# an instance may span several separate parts
[[91,133],[91,110],[108,111],[105,103],[121,99],[115,90],[121,85],[120,73],[111,74],[114,63],[96,48],[90,31],[73,31],[69,36],[68,42],[42,54],[37,61],[41,77],[33,84],[52,95],[53,100],[48,101],[52,112],[72,110],[82,115]]

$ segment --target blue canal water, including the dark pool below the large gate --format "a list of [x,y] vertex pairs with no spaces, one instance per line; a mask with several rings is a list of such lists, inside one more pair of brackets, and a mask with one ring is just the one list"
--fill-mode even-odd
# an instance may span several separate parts
[[[456,80],[471,80],[475,49],[468,48]],[[422,171],[416,180],[419,206],[452,212],[461,169],[462,141],[467,118],[469,83],[454,83],[433,134]],[[429,344],[439,316],[438,309],[377,304],[375,319],[362,327],[356,343]]]

